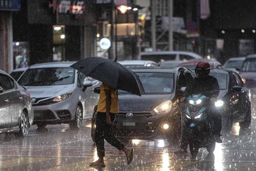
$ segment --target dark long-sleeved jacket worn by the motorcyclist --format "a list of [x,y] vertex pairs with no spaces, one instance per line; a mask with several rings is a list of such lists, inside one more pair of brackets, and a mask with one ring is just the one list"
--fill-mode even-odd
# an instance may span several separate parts
[[214,97],[217,99],[220,92],[220,88],[218,80],[215,77],[208,76],[205,79],[195,77],[191,82],[188,83],[185,93],[189,96],[191,94],[207,94],[212,90],[217,91],[208,94],[207,96]]

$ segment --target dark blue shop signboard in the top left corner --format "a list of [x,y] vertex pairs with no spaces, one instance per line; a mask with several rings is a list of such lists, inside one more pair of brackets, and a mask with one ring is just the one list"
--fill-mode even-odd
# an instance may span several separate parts
[[19,11],[20,0],[0,0],[0,11]]

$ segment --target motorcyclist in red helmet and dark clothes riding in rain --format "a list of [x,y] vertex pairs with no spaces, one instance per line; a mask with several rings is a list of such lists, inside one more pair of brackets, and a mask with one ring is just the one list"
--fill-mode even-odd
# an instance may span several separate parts
[[[219,84],[218,80],[215,77],[209,76],[210,73],[210,64],[206,61],[201,61],[197,64],[195,68],[196,77],[188,84],[187,88],[185,89],[186,95],[191,94],[206,94],[213,90],[216,90],[216,93],[208,94],[210,98],[210,106],[209,108],[209,119],[213,122],[213,133],[214,138],[217,143],[222,143],[220,138],[220,131],[221,131],[221,113],[215,107],[215,101],[219,95]],[[182,97],[180,102],[184,102],[186,97]],[[182,138],[180,143],[180,149],[175,151],[175,154],[186,154],[187,153],[187,127],[188,125],[185,124],[182,130]]]

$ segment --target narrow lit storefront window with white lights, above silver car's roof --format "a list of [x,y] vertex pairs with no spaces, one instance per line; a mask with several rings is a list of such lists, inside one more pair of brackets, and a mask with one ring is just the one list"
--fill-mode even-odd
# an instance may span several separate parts
[[53,26],[53,61],[65,60],[65,26]]

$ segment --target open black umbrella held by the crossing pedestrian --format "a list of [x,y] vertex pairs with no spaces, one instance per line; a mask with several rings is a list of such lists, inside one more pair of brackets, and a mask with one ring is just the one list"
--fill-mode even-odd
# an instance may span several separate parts
[[140,96],[145,94],[138,76],[116,61],[103,57],[89,57],[74,63],[70,67],[115,89]]

